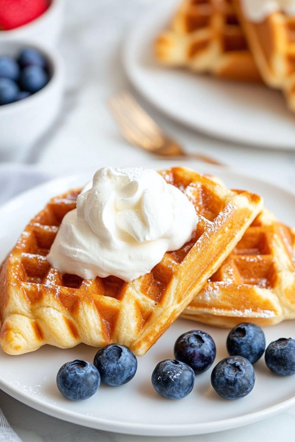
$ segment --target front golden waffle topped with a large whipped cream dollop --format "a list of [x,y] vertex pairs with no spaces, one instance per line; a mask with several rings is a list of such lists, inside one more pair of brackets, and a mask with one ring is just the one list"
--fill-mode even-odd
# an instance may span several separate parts
[[83,280],[51,268],[46,255],[79,190],[53,198],[27,225],[0,270],[0,345],[9,354],[48,343],[96,347],[115,342],[141,356],[203,287],[261,211],[261,198],[230,191],[190,169],[161,171],[199,213],[194,240],[167,252],[134,281]]

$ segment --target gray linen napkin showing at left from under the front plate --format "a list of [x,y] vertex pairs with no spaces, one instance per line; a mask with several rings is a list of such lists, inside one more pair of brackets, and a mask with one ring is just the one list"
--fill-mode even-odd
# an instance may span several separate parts
[[[34,167],[21,164],[0,165],[0,205],[20,192],[42,183],[49,176]],[[0,442],[21,442],[0,409]]]

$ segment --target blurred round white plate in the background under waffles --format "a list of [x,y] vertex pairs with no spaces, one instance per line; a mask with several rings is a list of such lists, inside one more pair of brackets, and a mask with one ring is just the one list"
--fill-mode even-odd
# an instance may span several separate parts
[[157,65],[153,41],[179,3],[157,1],[135,22],[123,51],[130,81],[150,103],[193,129],[239,143],[295,149],[295,115],[279,91]]

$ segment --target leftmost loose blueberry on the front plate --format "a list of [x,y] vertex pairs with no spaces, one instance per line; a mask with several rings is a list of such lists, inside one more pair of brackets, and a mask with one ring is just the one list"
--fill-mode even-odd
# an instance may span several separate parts
[[56,383],[61,394],[67,399],[88,399],[100,386],[100,373],[89,362],[75,359],[61,366]]

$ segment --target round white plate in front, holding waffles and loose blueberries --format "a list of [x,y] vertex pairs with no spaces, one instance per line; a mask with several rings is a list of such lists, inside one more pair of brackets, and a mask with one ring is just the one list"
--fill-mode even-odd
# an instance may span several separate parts
[[[167,167],[158,161],[157,168]],[[257,179],[207,165],[189,166],[201,172],[218,175],[234,188],[247,188],[262,194],[265,204],[285,223],[295,220],[295,194]],[[0,208],[0,258],[14,245],[27,221],[49,198],[83,185],[90,175],[56,179],[35,187]],[[0,351],[0,388],[39,411],[69,422],[101,430],[129,434],[177,436],[202,434],[238,427],[263,419],[295,405],[295,377],[278,377],[265,366],[262,358],[255,364],[256,385],[244,399],[227,401],[220,398],[210,384],[211,370],[196,377],[195,388],[183,400],[165,400],[159,396],[150,378],[157,362],[173,358],[173,345],[184,331],[201,328],[215,339],[215,363],[226,357],[228,330],[209,327],[190,320],[176,320],[168,331],[142,358],[138,372],[126,385],[112,388],[101,385],[92,398],[72,402],[57,390],[55,378],[59,367],[75,358],[92,362],[94,347],[79,345],[68,350],[44,346],[34,353],[10,356]],[[264,329],[267,343],[282,336],[295,336],[295,322],[289,321]]]

